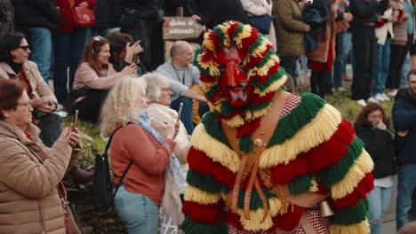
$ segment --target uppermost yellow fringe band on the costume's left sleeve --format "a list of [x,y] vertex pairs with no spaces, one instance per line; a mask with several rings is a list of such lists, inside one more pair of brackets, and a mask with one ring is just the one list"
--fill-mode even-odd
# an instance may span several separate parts
[[236,173],[240,167],[240,158],[236,152],[228,148],[226,144],[208,135],[204,124],[199,124],[194,129],[190,143],[199,151],[204,152],[213,161],[219,162],[222,166]]

